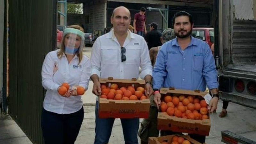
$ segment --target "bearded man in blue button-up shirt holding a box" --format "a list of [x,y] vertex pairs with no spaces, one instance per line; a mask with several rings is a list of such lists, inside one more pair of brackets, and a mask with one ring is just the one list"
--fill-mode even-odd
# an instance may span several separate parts
[[[191,36],[194,26],[188,12],[177,12],[172,19],[175,39],[162,45],[153,69],[154,101],[161,104],[161,87],[205,91],[212,93],[209,112],[217,109],[218,82],[211,49],[204,41]],[[191,134],[191,138],[204,143],[205,136]]]

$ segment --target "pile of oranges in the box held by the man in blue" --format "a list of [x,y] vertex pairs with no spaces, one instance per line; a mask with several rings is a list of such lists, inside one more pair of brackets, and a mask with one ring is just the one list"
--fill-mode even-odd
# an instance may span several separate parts
[[199,96],[164,96],[161,102],[161,112],[169,116],[186,119],[204,120],[209,119],[205,100]]

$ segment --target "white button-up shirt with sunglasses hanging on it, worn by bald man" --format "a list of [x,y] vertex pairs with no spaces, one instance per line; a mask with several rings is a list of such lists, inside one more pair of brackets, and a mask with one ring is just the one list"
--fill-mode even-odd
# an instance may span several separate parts
[[141,67],[140,78],[152,76],[148,45],[144,38],[128,30],[123,47],[126,49],[126,60],[121,62],[121,46],[114,31],[98,37],[92,46],[91,75],[97,74],[100,78],[138,79]]

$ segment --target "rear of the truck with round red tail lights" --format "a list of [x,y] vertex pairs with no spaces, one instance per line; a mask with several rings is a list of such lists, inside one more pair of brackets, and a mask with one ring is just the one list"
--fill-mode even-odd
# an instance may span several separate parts
[[256,1],[219,0],[214,10],[220,99],[256,108]]

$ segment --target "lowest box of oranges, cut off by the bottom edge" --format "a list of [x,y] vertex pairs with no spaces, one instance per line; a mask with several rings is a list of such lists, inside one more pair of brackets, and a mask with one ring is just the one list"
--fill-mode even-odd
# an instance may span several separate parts
[[188,135],[174,134],[162,137],[149,137],[148,144],[202,144]]

